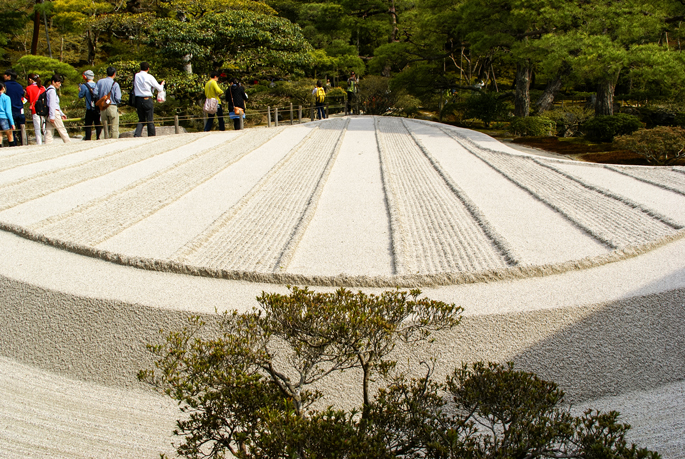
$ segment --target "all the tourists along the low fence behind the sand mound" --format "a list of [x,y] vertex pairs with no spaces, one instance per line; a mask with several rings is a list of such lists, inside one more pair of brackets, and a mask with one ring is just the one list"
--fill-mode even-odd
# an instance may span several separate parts
[[[143,127],[147,126],[147,135],[155,135],[154,118],[154,91],[157,91],[157,98],[164,97],[164,81],[158,83],[154,76],[150,75],[150,64],[142,62],[140,71],[133,78],[133,90],[130,105],[136,108],[138,124],[136,125],[134,137],[140,137]],[[95,74],[92,70],[83,72],[83,83],[79,84],[78,97],[84,99],[86,105],[85,113],[85,137],[84,140],[92,140],[93,128],[95,128],[95,138],[100,140],[102,133],[102,122],[109,129],[107,134],[112,139],[119,138],[119,111],[121,104],[122,91],[119,83],[115,81],[117,71],[114,67],[107,68],[107,77],[94,81]],[[4,83],[0,82],[0,143],[2,134],[7,136],[10,146],[22,144],[22,136],[18,134],[22,126],[26,123],[24,105],[29,104],[35,132],[36,144],[50,144],[53,142],[54,131],[57,131],[62,140],[70,142],[63,120],[67,119],[66,114],[59,105],[60,89],[64,78],[55,74],[50,79],[50,84],[45,88],[41,84],[40,75],[29,74],[26,89],[17,81],[17,73],[8,69],[4,74]],[[219,87],[219,72],[212,71],[209,81],[205,84],[206,100],[215,101],[210,104],[211,109],[205,107],[207,120],[204,130],[209,131],[214,124],[214,115],[219,121],[219,130],[225,130],[224,110],[221,97],[224,96],[228,105],[229,118],[233,120],[234,129],[241,129],[242,120],[245,118],[245,103],[248,99],[245,88],[237,79],[230,81],[227,94]],[[347,80],[347,103],[345,104],[345,114],[352,113],[352,103],[356,97],[359,79],[354,72]],[[326,89],[330,88],[330,80],[323,87],[320,81],[312,91],[316,101],[316,110],[319,119],[326,118],[324,101]],[[46,93],[46,113],[36,112],[36,102],[42,93]]]

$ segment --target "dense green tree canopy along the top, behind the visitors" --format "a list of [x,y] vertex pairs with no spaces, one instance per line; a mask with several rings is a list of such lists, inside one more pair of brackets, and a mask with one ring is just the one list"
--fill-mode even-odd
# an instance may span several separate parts
[[343,86],[354,71],[390,78],[391,90],[430,109],[494,92],[520,117],[550,110],[560,92],[592,100],[599,115],[619,100],[685,97],[681,0],[5,3],[5,65],[26,54],[75,67],[148,60],[172,73],[231,69]]

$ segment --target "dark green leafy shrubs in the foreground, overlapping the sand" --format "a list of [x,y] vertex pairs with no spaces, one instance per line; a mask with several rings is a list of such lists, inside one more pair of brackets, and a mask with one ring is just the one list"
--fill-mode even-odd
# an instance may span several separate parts
[[[260,309],[202,321],[149,346],[155,370],[139,377],[178,400],[177,452],[190,458],[658,458],[628,446],[618,413],[573,416],[552,382],[513,365],[476,363],[444,382],[408,379],[388,358],[395,345],[452,328],[461,308],[418,290],[380,295],[339,289],[263,293]],[[312,384],[359,370],[362,405],[316,409]],[[375,393],[370,381],[386,381]],[[330,395],[330,394],[329,394]]]

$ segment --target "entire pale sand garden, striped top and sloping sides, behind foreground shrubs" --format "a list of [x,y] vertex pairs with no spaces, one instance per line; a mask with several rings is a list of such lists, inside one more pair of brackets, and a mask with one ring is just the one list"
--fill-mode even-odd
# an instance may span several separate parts
[[288,284],[457,303],[400,360],[512,360],[685,457],[683,167],[383,117],[3,148],[0,254],[2,457],[173,452],[145,344]]

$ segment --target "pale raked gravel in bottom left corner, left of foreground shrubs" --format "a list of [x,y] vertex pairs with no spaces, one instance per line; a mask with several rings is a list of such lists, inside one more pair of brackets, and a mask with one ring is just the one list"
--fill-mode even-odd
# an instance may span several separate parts
[[65,378],[0,357],[3,458],[158,458],[178,407],[169,398]]

